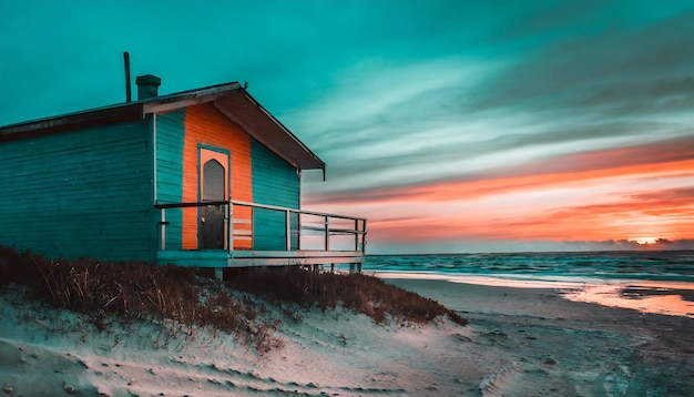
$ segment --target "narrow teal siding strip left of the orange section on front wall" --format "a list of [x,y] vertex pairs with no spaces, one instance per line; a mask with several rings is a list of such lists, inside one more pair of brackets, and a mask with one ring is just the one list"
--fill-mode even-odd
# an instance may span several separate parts
[[[185,109],[156,116],[156,200],[159,204],[183,201],[183,139]],[[161,212],[160,212],[161,214]],[[157,215],[161,218],[161,215]],[[166,250],[181,250],[181,208],[167,208]],[[157,242],[159,243],[159,242]]]

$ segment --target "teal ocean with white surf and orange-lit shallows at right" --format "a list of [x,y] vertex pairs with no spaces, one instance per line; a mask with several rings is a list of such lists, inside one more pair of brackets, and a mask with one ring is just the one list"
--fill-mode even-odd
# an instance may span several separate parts
[[382,278],[555,288],[579,302],[694,318],[694,251],[368,255]]

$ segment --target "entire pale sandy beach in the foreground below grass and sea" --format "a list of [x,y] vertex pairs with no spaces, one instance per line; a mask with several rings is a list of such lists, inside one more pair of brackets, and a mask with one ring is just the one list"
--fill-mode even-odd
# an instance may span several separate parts
[[211,329],[99,332],[0,296],[10,396],[692,396],[694,318],[572,302],[555,288],[387,278],[470,320],[377,325],[314,309],[259,355]]

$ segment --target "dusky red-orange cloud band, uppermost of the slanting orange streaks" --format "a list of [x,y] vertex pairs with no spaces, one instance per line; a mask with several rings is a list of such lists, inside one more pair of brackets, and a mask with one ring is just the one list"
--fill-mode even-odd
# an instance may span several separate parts
[[[356,177],[363,175],[356,166]],[[694,138],[678,138],[657,144],[600,150],[543,161],[395,186],[345,185],[335,191],[312,192],[307,204],[370,201],[448,201],[479,198],[559,185],[584,185],[605,179],[686,177],[694,175]],[[437,174],[440,175],[440,174]],[[344,180],[344,179],[343,179]]]

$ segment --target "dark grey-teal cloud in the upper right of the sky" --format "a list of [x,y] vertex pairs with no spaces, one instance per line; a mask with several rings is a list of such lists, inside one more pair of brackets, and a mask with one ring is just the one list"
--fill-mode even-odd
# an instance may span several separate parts
[[636,118],[691,109],[692,18],[690,9],[645,27],[559,34],[489,82],[471,106]]

